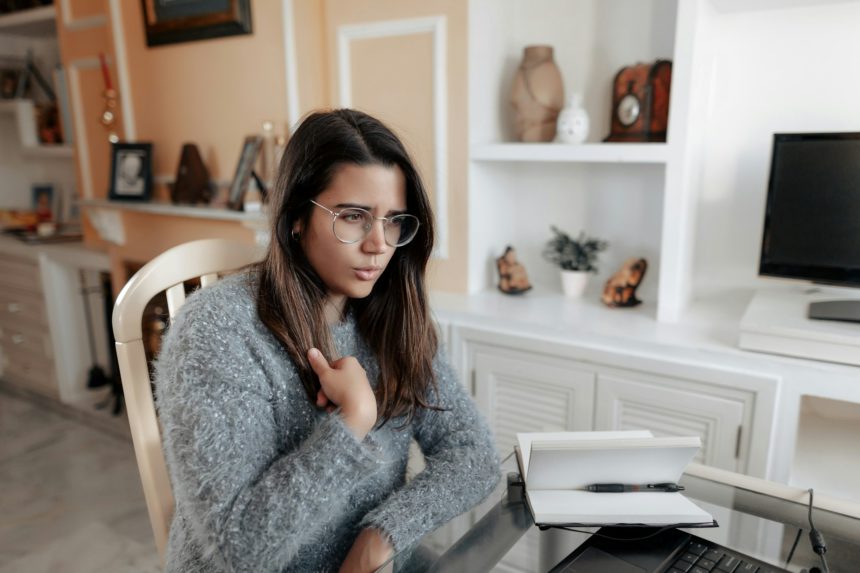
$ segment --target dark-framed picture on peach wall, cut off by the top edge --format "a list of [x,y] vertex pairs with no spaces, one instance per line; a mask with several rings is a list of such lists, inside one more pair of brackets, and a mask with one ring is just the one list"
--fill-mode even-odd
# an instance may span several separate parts
[[250,0],[141,0],[149,47],[253,33]]

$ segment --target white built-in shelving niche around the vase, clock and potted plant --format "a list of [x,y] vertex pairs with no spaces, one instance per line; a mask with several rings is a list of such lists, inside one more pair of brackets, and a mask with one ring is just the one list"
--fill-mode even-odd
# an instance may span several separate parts
[[[470,3],[470,292],[492,288],[492,261],[508,244],[532,282],[560,290],[557,269],[541,256],[549,226],[556,225],[609,241],[592,289],[625,259],[644,256],[650,268],[640,292],[657,300],[659,320],[678,318],[689,298],[689,253],[683,245],[694,207],[682,190],[692,64],[692,30],[685,30],[694,27],[699,4]],[[508,92],[522,48],[530,44],[552,45],[565,96],[584,96],[591,120],[585,144],[513,142]],[[661,58],[674,62],[669,141],[602,143],[615,73]]]

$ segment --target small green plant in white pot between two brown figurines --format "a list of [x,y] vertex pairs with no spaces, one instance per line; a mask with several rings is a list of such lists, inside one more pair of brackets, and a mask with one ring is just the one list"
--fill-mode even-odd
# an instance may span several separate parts
[[582,296],[588,284],[589,273],[596,273],[597,255],[609,246],[601,239],[589,237],[584,231],[573,238],[558,227],[550,226],[555,235],[547,241],[543,256],[561,269],[564,294],[572,298]]

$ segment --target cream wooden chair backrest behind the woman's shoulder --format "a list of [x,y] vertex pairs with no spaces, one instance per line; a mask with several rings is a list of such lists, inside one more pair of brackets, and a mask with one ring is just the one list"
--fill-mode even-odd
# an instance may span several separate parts
[[259,247],[225,239],[203,239],[178,245],[135,273],[114,305],[113,334],[134,453],[155,544],[162,559],[174,501],[143,345],[143,312],[154,296],[165,292],[172,319],[185,302],[184,281],[200,278],[200,286],[205,288],[218,280],[218,273],[258,261],[262,255]]

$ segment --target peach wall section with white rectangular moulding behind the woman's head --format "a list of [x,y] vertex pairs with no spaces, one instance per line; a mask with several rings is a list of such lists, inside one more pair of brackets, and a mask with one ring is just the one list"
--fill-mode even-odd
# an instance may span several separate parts
[[[437,290],[465,292],[467,289],[467,210],[466,194],[468,131],[467,131],[467,56],[468,56],[468,3],[462,0],[325,0],[325,36],[328,44],[329,97],[338,101],[337,29],[343,25],[383,20],[412,19],[427,16],[446,16],[447,70],[448,70],[448,240],[449,255],[434,260],[431,265],[430,287]],[[353,42],[353,58],[376,57],[398,66],[388,77],[380,76],[386,70],[380,64],[373,73],[359,75],[353,70],[353,94],[361,97],[362,105],[401,124],[403,135],[410,141],[421,172],[432,182],[433,130],[425,126],[432,122],[432,92],[427,93],[432,59],[422,35]],[[372,46],[371,44],[376,44]],[[386,53],[400,51],[398,53]],[[408,62],[418,69],[408,70]],[[370,65],[370,62],[360,64]],[[401,76],[401,74],[407,74]],[[383,79],[380,79],[383,78]],[[412,82],[412,83],[410,83]],[[430,84],[432,85],[432,84]],[[415,103],[415,108],[411,106]],[[422,107],[423,106],[423,107]],[[432,109],[432,107],[430,108]],[[411,110],[411,112],[410,112]],[[415,116],[426,117],[415,117]],[[395,125],[396,129],[396,125]],[[428,159],[429,158],[429,159]]]

